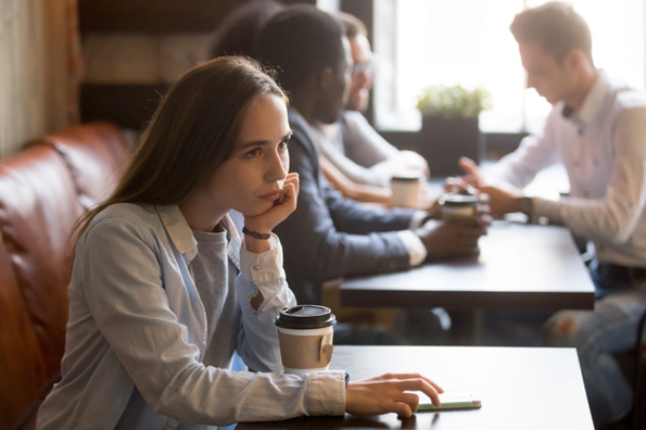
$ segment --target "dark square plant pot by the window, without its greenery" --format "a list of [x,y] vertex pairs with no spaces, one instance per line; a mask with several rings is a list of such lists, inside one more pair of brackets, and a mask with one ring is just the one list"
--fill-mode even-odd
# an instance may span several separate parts
[[479,163],[484,153],[484,135],[479,118],[422,116],[418,151],[431,168],[431,177],[461,175],[460,156]]

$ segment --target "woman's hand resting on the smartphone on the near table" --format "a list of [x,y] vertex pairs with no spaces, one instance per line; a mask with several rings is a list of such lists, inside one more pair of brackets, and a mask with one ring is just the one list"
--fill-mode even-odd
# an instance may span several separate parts
[[444,390],[419,374],[385,374],[377,378],[350,382],[345,389],[345,412],[354,415],[396,413],[408,418],[417,412],[421,391],[433,405],[440,405],[438,393]]

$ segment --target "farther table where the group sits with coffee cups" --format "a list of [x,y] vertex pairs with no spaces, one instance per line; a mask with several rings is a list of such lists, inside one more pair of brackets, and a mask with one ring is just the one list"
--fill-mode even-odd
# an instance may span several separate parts
[[343,306],[592,309],[594,284],[563,227],[494,222],[478,257],[347,278]]

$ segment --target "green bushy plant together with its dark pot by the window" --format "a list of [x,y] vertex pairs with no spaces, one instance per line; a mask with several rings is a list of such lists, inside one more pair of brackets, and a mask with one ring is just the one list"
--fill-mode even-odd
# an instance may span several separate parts
[[421,92],[417,99],[422,137],[419,152],[429,162],[431,175],[460,174],[460,156],[481,160],[484,135],[479,115],[490,106],[490,93],[483,88],[431,86]]

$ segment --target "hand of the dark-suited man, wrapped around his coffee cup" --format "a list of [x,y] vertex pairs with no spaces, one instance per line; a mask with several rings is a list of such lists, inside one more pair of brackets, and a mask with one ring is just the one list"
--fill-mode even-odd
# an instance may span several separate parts
[[464,220],[430,220],[414,232],[427,249],[427,261],[447,260],[479,253],[478,239],[486,235],[483,217]]

